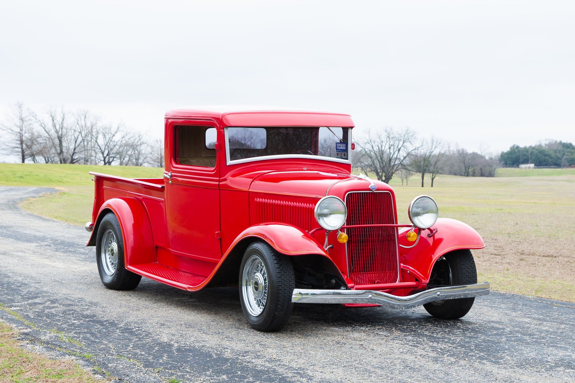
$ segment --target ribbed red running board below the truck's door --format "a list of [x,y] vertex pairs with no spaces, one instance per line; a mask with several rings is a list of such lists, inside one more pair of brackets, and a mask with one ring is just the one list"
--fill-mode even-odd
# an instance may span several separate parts
[[150,264],[130,265],[126,269],[143,277],[153,279],[182,290],[194,289],[204,283],[207,277],[186,273],[168,266],[152,262]]

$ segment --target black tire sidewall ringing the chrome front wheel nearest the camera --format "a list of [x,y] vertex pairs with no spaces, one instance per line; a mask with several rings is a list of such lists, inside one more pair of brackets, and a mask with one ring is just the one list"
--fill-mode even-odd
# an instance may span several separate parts
[[[266,268],[266,273],[267,273],[267,300],[266,300],[266,305],[263,308],[262,314],[260,314],[258,316],[253,316],[250,314],[250,312],[248,312],[246,310],[246,302],[244,301],[243,287],[241,285],[241,281],[243,280],[244,267],[246,267],[246,262],[247,262],[248,258],[250,258],[252,255],[257,255],[260,258],[264,267]],[[274,273],[274,270],[272,270],[270,268],[270,262],[271,262],[271,260],[269,259],[267,250],[259,242],[252,243],[248,247],[248,249],[246,250],[246,253],[244,254],[243,260],[241,260],[240,275],[239,275],[241,311],[244,312],[244,315],[246,316],[248,322],[250,322],[251,326],[256,328],[256,329],[264,327],[270,321],[270,318],[273,315],[274,308],[275,308],[274,303],[275,303],[275,300],[277,298],[277,296],[276,296],[277,295],[277,289],[275,288],[275,273]]]

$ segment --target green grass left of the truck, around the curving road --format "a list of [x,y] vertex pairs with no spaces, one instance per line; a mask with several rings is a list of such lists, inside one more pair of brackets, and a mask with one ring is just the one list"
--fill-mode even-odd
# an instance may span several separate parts
[[120,167],[103,165],[0,164],[0,185],[39,186],[60,190],[22,202],[24,210],[73,225],[84,225],[91,219],[94,182],[88,172],[99,172],[127,178],[162,177],[162,168]]

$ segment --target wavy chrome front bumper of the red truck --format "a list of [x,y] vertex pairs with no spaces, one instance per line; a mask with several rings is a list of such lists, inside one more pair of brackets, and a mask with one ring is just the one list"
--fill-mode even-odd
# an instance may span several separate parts
[[371,303],[391,308],[412,308],[438,300],[470,298],[489,294],[489,282],[447,286],[425,290],[409,296],[396,296],[371,290],[294,289],[294,303]]

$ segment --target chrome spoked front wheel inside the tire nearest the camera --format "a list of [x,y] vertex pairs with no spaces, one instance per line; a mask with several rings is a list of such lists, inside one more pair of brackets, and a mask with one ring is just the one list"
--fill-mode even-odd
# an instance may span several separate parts
[[246,309],[252,316],[262,314],[267,301],[267,270],[262,259],[256,254],[248,258],[241,274],[241,294]]

